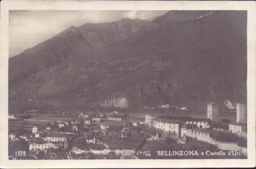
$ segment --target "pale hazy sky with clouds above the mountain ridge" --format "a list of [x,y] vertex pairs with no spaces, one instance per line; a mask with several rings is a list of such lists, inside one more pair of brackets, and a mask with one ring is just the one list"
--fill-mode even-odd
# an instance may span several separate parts
[[9,57],[54,37],[70,26],[121,18],[150,19],[167,11],[9,11]]

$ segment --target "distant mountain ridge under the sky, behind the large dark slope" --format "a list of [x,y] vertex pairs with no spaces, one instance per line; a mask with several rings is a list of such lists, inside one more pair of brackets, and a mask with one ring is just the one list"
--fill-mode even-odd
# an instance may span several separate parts
[[71,26],[55,37],[12,57],[9,60],[9,83],[12,85],[39,70],[91,54],[94,48],[125,39],[146,24],[146,20],[124,18],[111,23],[86,23],[78,28]]

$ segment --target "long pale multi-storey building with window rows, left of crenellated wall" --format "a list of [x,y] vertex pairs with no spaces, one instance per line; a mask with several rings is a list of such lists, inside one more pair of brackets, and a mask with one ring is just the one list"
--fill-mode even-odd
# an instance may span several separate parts
[[154,128],[160,129],[166,132],[174,132],[179,136],[179,123],[180,121],[169,120],[163,118],[155,118],[154,119]]

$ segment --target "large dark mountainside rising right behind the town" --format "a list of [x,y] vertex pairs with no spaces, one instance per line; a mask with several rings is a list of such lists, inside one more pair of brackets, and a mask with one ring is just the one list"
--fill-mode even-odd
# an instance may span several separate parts
[[[100,24],[104,31],[93,24],[79,27],[93,52],[24,76],[10,85],[10,95],[68,107],[247,101],[246,11],[169,11],[138,29],[126,29],[135,30],[128,35],[119,30],[102,36],[109,24]],[[81,51],[79,46],[73,50]],[[20,68],[12,58],[9,62],[31,69]]]

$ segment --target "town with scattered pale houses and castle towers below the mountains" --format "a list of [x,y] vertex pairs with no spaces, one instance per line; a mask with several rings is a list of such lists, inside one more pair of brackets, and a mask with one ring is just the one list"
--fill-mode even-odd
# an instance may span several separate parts
[[236,121],[220,120],[218,109],[208,103],[205,118],[152,112],[136,118],[119,111],[9,114],[9,159],[193,158],[158,155],[181,150],[237,151],[239,157],[223,158],[247,158],[245,104],[236,104]]

